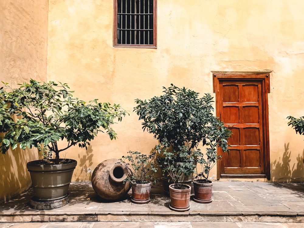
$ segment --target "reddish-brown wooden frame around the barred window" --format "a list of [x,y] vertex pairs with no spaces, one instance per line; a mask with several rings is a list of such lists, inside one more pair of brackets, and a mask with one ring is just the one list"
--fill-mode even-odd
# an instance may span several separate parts
[[117,43],[117,0],[113,0],[113,46],[131,48],[157,48],[157,0],[153,0],[153,44]]

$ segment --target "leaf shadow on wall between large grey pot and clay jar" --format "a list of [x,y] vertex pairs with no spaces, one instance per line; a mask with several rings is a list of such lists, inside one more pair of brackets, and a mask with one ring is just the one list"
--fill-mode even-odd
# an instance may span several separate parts
[[91,180],[92,178],[92,170],[91,167],[93,165],[93,149],[92,145],[88,146],[88,149],[85,152],[85,155],[80,157],[80,154],[78,154],[79,158],[79,164],[77,165],[78,168],[75,170],[76,179],[75,181],[81,181],[81,180]]

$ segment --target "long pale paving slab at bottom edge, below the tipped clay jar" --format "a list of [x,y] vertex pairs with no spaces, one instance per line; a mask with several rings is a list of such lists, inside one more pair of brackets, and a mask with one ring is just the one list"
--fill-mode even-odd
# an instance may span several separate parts
[[99,222],[95,223],[92,228],[154,228],[153,222]]

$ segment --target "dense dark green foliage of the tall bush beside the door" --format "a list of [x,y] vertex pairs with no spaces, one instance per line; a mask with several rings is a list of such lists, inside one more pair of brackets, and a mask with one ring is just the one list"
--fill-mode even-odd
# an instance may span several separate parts
[[202,141],[202,145],[214,142],[224,150],[227,130],[216,116],[213,116],[213,97],[207,93],[199,98],[199,93],[187,88],[164,88],[164,95],[147,100],[136,99],[134,111],[143,120],[143,130],[165,147],[179,150],[186,145],[188,154]]

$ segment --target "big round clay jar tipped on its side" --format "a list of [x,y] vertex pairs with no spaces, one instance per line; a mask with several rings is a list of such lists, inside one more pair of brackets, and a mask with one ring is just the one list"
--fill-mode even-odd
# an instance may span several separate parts
[[124,162],[108,159],[100,163],[93,171],[92,187],[102,199],[118,200],[131,188],[130,182],[123,183],[128,176],[132,176],[132,171]]

